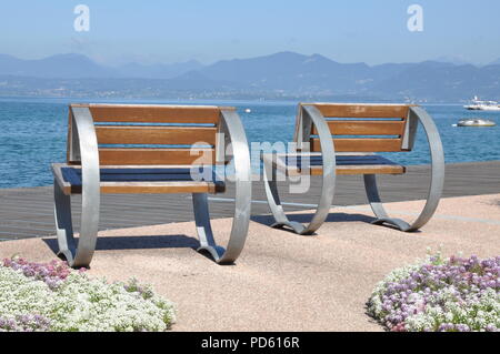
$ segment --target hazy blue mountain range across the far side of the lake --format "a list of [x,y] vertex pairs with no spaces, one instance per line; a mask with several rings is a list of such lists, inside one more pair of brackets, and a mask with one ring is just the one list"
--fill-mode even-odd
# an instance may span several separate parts
[[0,54],[0,95],[266,98],[459,102],[500,99],[500,59],[484,67],[446,62],[339,63],[280,52],[222,60],[106,67],[81,54],[22,60]]

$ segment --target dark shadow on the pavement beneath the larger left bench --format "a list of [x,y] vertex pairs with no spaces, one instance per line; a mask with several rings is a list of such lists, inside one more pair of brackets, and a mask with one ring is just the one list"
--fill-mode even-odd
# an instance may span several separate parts
[[[58,253],[57,239],[42,239],[48,247]],[[78,240],[78,239],[77,239]],[[198,239],[187,235],[143,235],[143,236],[99,236],[96,251],[192,249],[200,246]]]

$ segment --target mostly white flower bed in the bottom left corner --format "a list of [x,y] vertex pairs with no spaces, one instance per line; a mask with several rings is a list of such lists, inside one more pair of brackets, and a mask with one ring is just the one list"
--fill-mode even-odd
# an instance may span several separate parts
[[0,262],[1,331],[167,331],[173,305],[136,280],[107,283],[66,262]]

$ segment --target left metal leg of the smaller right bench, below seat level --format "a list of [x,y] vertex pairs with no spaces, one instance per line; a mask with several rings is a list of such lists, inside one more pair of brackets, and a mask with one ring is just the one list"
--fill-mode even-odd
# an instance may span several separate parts
[[[269,174],[271,175],[270,179]],[[334,175],[323,175],[320,202],[314,216],[308,225],[303,225],[297,221],[290,221],[284,214],[278,192],[277,169],[272,162],[264,161],[263,181],[268,204],[276,220],[276,223],[273,223],[271,227],[282,229],[287,226],[300,235],[311,235],[323,224],[324,220],[327,220],[333,201]]]

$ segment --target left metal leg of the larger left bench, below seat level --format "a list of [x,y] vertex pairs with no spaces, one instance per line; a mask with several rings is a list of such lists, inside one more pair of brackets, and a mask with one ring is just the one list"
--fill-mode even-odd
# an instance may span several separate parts
[[80,236],[77,242],[72,227],[71,196],[66,195],[56,181],[53,185],[58,255],[64,257],[72,267],[88,267],[97,243],[99,200],[91,201],[86,194],[82,195]]

